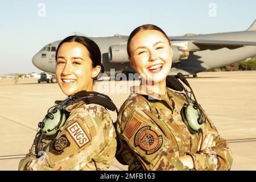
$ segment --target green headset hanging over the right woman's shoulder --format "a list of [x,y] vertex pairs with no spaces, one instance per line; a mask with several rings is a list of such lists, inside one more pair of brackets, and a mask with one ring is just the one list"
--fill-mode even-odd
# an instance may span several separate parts
[[[188,88],[191,90],[188,92],[187,89],[183,86],[183,84],[180,83],[180,81],[177,78],[180,78],[182,82],[184,82],[185,85],[188,86]],[[185,79],[182,73],[177,73],[176,77],[168,76],[166,78],[166,84],[168,88],[177,90],[177,91],[185,91],[185,96],[187,99],[187,103],[185,103],[180,111],[181,118],[183,119],[183,122],[187,126],[188,130],[191,134],[196,134],[199,131],[203,133],[202,127],[204,125],[203,117],[202,117],[202,110],[196,100],[195,94],[193,93],[193,90],[191,86],[189,85],[188,81]],[[195,100],[192,100],[191,95],[193,94],[193,98]]]

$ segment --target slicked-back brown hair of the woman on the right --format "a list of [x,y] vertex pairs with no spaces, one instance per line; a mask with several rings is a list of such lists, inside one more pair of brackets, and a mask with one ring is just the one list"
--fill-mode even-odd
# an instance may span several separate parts
[[[156,31],[159,31],[159,32],[162,32],[162,34],[166,37],[166,39],[169,40],[170,42],[170,39],[168,38],[168,36],[166,35],[166,33],[161,29],[159,28],[158,26],[154,25],[154,24],[143,24],[142,26],[139,26],[137,28],[135,28],[129,38],[128,38],[128,41],[127,41],[127,53],[128,53],[128,56],[130,57],[131,56],[131,53],[130,53],[130,43],[131,43],[131,39],[133,39],[133,37],[139,32],[139,31],[142,31],[142,30],[156,30]],[[171,43],[170,43],[171,45]]]

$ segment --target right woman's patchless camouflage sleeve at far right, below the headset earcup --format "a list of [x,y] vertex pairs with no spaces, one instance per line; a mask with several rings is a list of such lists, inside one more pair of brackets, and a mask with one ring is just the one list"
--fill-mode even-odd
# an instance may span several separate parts
[[188,152],[188,155],[192,156],[196,170],[230,170],[233,158],[228,142],[221,138],[216,127],[208,118],[207,114],[205,114],[204,110],[203,115],[206,119],[203,127],[203,133],[204,135],[208,133],[212,134],[214,142],[216,142],[216,146],[212,148],[205,148],[200,152]]

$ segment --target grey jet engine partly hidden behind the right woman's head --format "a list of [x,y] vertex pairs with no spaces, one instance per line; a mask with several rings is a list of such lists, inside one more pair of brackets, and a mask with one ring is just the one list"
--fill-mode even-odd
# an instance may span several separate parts
[[[188,57],[189,51],[172,45],[172,63],[179,62],[180,59]],[[110,63],[129,63],[126,45],[114,45],[109,47]]]

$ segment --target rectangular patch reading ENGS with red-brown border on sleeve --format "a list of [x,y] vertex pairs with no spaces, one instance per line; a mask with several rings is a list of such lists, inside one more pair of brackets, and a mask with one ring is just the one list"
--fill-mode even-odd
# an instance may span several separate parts
[[72,125],[67,127],[66,129],[68,133],[71,135],[71,137],[75,140],[77,146],[81,148],[84,146],[86,143],[90,142],[89,137],[85,134],[85,131],[82,129],[81,125],[79,122],[74,122]]

